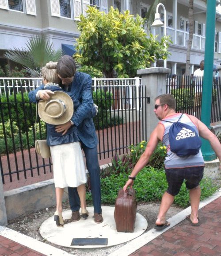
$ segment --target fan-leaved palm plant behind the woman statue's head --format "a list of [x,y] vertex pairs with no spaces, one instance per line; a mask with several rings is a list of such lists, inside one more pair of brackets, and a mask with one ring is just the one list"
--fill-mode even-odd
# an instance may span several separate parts
[[40,70],[47,62],[57,62],[62,56],[62,50],[54,50],[53,43],[43,34],[31,37],[26,46],[8,50],[4,56],[23,65],[31,77],[40,77]]

